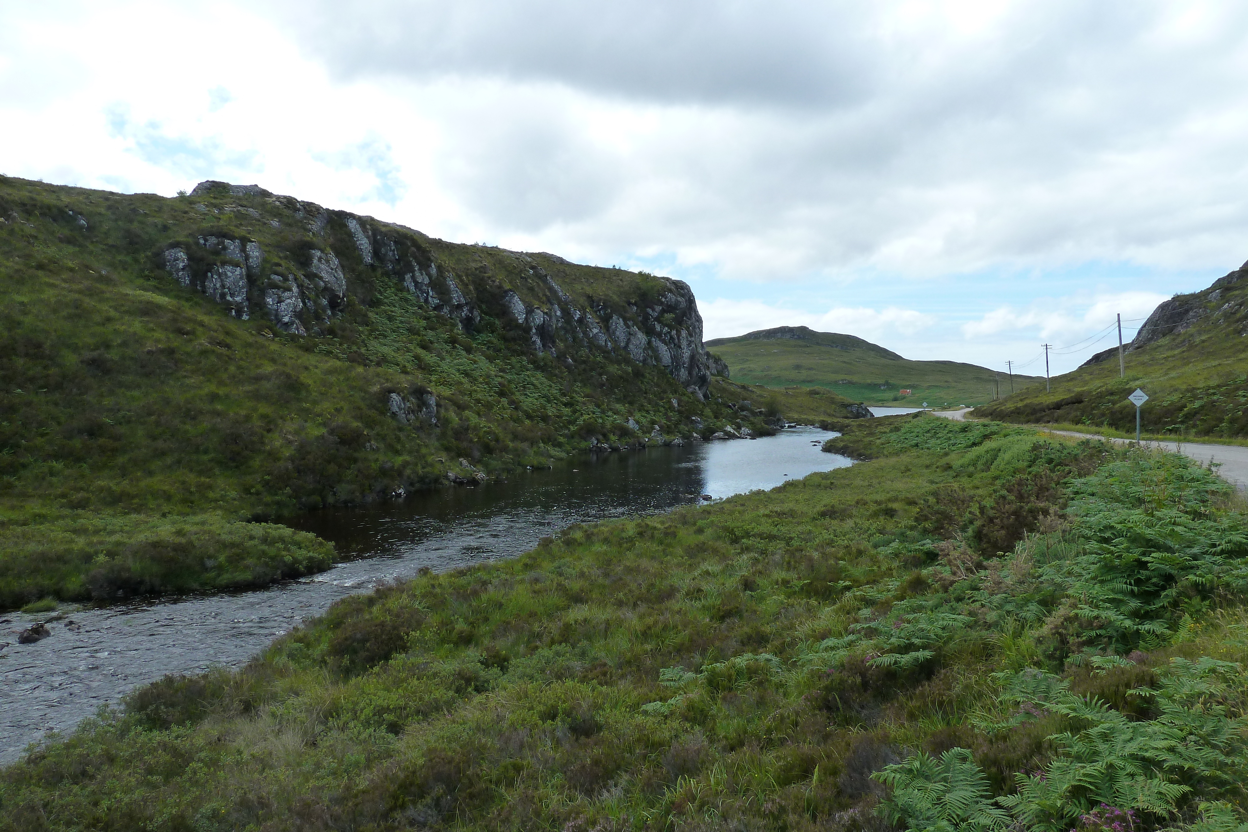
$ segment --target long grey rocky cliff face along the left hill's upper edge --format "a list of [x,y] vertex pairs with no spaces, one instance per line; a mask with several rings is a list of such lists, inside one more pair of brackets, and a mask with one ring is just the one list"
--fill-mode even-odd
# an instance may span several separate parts
[[[371,281],[401,286],[422,304],[472,333],[487,314],[518,329],[538,354],[573,360],[578,348],[604,351],[668,370],[705,397],[723,362],[703,347],[703,322],[689,286],[670,278],[577,266],[527,254],[434,241],[401,226],[326,211],[255,185],[201,182],[192,197],[237,197],[246,205],[201,203],[205,232],[171,241],[160,267],[247,319],[267,317],[283,332],[316,337],[347,298]],[[215,230],[211,215],[243,213],[271,228],[267,241]]]

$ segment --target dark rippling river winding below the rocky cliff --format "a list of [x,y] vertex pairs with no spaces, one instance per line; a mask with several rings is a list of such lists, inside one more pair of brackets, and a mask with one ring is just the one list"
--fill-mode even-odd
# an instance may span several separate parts
[[5,614],[0,762],[166,674],[240,666],[338,599],[422,566],[510,558],[573,523],[665,511],[704,494],[719,499],[849,465],[820,452],[829,435],[795,428],[756,440],[587,455],[507,483],[316,511],[287,523],[332,540],[349,559],[326,573],[252,593],[81,609],[50,622],[52,635],[34,645],[15,644],[15,634],[46,616]]

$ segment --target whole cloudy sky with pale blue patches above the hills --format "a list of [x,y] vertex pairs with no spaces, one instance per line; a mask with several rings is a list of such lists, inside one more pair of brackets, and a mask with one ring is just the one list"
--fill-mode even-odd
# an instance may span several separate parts
[[1056,373],[1248,258],[1248,5],[0,0],[0,172],[257,182],[680,277],[708,338]]

